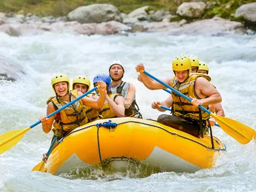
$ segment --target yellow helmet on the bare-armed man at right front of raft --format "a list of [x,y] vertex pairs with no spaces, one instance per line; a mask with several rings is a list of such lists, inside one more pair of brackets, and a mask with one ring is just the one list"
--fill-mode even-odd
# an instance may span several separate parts
[[189,70],[189,75],[190,75],[190,70],[191,70],[190,59],[185,55],[178,55],[172,61],[172,71],[185,71],[185,70]]

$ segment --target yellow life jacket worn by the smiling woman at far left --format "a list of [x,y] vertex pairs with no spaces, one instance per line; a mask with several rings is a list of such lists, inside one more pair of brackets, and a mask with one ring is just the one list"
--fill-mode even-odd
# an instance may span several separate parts
[[[71,92],[69,92],[69,96],[71,101],[75,100],[78,96],[77,90],[71,90]],[[49,102],[53,103],[56,110],[69,103],[56,96],[49,98],[46,103],[49,104]],[[84,103],[82,100],[78,100],[57,113],[52,131],[57,137],[63,137],[73,131],[73,129],[81,125],[85,125],[86,123],[88,123],[88,119]]]

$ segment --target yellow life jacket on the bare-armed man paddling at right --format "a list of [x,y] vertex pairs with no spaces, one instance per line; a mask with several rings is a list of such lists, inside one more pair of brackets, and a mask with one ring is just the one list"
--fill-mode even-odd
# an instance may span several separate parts
[[[199,98],[199,96],[197,96],[195,93],[195,79],[200,76],[201,74],[191,74],[183,83],[180,83],[177,77],[174,77],[170,83],[170,86],[182,94],[185,94],[185,96]],[[193,106],[189,100],[179,96],[179,94],[172,92],[172,100],[172,114],[177,117],[190,118],[198,121],[200,119],[207,120],[210,118],[208,113],[203,110],[199,110],[197,106]],[[208,108],[207,105],[203,105],[203,107]]]

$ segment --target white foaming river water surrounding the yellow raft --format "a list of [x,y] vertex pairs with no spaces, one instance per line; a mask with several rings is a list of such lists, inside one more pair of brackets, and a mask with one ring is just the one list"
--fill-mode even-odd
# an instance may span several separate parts
[[[129,34],[75,36],[45,33],[10,37],[0,33],[0,53],[20,63],[26,75],[17,82],[0,82],[0,134],[24,129],[46,113],[46,100],[53,96],[51,77],[108,73],[110,62],[121,59],[124,80],[135,85],[144,118],[161,113],[151,108],[153,100],[164,100],[162,90],[150,91],[137,81],[135,65],[162,78],[173,75],[176,55],[197,55],[208,63],[212,84],[222,94],[226,117],[256,129],[256,35],[168,36]],[[158,172],[153,168],[111,172],[95,168],[53,176],[30,172],[49,148],[52,134],[40,125],[28,131],[18,144],[0,156],[0,191],[256,191],[256,146],[241,145],[219,127],[214,135],[226,144],[211,169],[195,173]]]

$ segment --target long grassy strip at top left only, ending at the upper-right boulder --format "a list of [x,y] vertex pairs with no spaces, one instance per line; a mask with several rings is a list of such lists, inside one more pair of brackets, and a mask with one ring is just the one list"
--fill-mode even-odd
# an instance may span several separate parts
[[0,11],[4,13],[18,13],[24,10],[24,13],[33,13],[38,16],[64,16],[73,9],[91,5],[94,3],[108,3],[115,5],[119,11],[130,13],[134,9],[150,5],[150,9],[166,11],[175,11],[184,1],[181,0],[1,0]]

